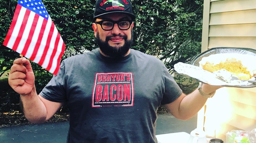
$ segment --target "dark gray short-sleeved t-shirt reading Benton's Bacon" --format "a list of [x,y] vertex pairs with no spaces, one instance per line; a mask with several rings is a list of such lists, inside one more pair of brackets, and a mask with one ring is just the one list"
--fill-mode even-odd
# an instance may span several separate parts
[[63,60],[40,95],[68,104],[67,142],[154,143],[158,107],[181,93],[156,57],[131,49],[112,59],[97,48]]

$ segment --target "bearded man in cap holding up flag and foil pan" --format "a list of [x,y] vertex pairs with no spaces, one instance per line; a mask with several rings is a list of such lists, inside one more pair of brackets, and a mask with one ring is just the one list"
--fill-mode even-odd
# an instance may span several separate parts
[[157,143],[157,109],[192,118],[218,86],[182,93],[164,64],[131,49],[135,15],[129,0],[97,0],[93,30],[99,48],[62,61],[37,95],[32,67],[16,59],[10,86],[20,94],[25,117],[49,120],[63,105],[70,110],[68,143]]

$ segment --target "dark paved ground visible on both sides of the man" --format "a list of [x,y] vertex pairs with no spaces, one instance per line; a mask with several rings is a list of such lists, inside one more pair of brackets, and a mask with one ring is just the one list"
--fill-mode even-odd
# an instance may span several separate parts
[[[196,128],[197,116],[182,121],[172,115],[158,115],[156,135],[189,133]],[[0,128],[0,143],[65,143],[69,122],[21,125]]]

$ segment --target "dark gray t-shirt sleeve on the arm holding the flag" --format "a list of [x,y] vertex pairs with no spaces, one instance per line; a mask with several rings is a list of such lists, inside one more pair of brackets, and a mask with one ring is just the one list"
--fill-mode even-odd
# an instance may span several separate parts
[[39,93],[43,98],[53,102],[66,102],[65,63],[62,61],[57,75]]

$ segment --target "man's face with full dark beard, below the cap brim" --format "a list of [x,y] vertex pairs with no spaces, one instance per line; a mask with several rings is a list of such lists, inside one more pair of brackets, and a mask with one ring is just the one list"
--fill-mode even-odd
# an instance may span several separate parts
[[[96,22],[102,20],[131,20],[131,18],[126,14],[107,14],[98,19]],[[110,31],[103,30],[100,24],[93,24],[94,34],[96,37],[96,41],[98,42],[98,46],[100,48],[100,52],[104,56],[109,56],[113,58],[126,56],[129,54],[129,50],[132,44],[133,38],[133,23],[131,27],[127,30],[120,30],[118,25],[115,24],[114,28]]]

